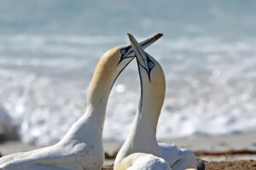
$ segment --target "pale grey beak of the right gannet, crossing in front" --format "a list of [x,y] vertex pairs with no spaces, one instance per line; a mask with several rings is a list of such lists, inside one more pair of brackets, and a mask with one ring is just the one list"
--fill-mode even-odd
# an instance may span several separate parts
[[133,37],[130,33],[127,33],[127,35],[130,39],[131,46],[136,54],[138,65],[141,65],[148,72],[149,69],[148,69],[147,53],[143,50],[143,48],[137,42],[135,37]]

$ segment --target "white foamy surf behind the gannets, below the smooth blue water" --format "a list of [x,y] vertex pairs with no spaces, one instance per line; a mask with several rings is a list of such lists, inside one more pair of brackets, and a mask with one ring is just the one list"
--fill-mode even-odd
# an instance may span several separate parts
[[[123,44],[128,42],[120,37],[0,36],[0,130],[9,122],[24,142],[57,142],[84,114],[86,91],[102,54]],[[158,138],[254,129],[255,46],[256,39],[196,37],[163,38],[149,47],[166,75]],[[134,60],[113,86],[104,139],[125,139],[139,95]]]

